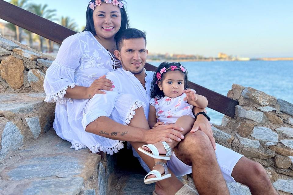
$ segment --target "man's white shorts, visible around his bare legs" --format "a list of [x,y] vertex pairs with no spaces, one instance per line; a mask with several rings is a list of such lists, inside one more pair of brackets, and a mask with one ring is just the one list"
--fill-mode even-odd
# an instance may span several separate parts
[[[231,176],[232,171],[236,163],[239,161],[242,154],[238,154],[237,152],[230,150],[220,144],[216,143],[217,150],[216,158],[221,169],[222,175],[226,181],[235,182],[233,177]],[[150,169],[145,164],[145,162],[139,157],[134,149],[132,149],[133,155],[139,159],[140,164],[147,172],[150,172]],[[192,173],[192,167],[183,163],[175,153],[172,154],[171,159],[167,161],[168,168],[175,174],[175,176],[184,176],[186,174]]]

